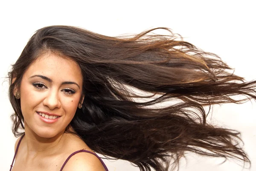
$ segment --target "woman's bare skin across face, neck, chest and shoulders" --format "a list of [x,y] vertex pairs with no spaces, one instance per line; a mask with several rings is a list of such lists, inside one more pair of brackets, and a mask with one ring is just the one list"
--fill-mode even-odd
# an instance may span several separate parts
[[[84,99],[82,73],[76,62],[52,53],[41,55],[24,73],[19,90],[25,136],[12,171],[59,171],[74,151],[92,151],[78,136],[64,133],[79,102],[82,103]],[[55,113],[61,117],[57,122],[49,124],[41,121],[37,111]],[[89,153],[78,153],[71,157],[63,171],[77,169],[104,171],[99,159]]]

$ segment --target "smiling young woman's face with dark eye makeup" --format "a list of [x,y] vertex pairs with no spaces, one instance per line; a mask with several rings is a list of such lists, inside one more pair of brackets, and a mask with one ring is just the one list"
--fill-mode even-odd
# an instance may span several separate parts
[[45,138],[64,132],[83,101],[81,92],[82,73],[76,62],[53,54],[39,57],[20,85],[25,131]]

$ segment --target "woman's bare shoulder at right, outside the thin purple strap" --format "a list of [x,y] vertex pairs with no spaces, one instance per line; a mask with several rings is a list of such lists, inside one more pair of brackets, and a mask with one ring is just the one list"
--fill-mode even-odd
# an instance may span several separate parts
[[63,171],[105,171],[105,168],[95,155],[80,152],[68,160]]

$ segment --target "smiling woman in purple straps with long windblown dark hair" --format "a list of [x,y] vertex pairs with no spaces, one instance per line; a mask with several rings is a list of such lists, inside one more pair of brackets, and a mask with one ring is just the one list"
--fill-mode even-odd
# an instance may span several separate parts
[[[207,123],[204,107],[256,99],[256,81],[166,30],[114,38],[72,26],[35,32],[9,72],[20,136],[12,171],[107,171],[94,152],[142,171],[174,169],[186,151],[250,164],[239,132]],[[175,103],[153,106],[165,101]]]

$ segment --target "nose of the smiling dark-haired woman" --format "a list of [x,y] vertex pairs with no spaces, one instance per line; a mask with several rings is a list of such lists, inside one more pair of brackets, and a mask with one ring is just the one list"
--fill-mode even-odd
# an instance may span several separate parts
[[60,108],[61,102],[59,101],[58,91],[57,90],[49,91],[43,101],[43,105],[49,107],[50,110]]

